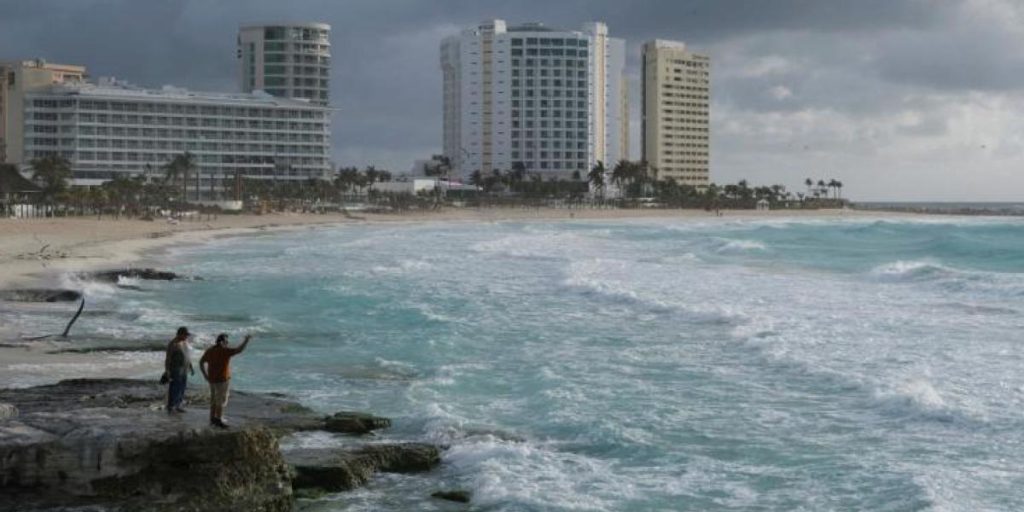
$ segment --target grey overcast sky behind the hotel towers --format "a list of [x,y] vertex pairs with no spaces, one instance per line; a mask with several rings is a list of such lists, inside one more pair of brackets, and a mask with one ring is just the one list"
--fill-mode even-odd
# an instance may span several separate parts
[[326,22],[335,161],[404,172],[441,145],[441,38],[494,17],[625,38],[634,158],[640,45],[675,39],[712,56],[716,182],[1021,200],[1020,0],[0,0],[0,59],[231,91],[240,24]]

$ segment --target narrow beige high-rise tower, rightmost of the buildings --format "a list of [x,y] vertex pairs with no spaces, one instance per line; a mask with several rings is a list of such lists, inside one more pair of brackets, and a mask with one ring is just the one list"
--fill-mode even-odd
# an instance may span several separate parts
[[659,178],[711,182],[711,58],[676,41],[643,45],[643,160]]

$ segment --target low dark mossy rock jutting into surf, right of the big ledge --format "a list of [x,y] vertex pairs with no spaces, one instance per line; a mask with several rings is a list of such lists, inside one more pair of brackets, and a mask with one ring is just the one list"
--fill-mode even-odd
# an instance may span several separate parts
[[440,451],[420,442],[364,444],[355,449],[302,449],[287,452],[295,488],[350,490],[377,472],[414,473],[440,464]]

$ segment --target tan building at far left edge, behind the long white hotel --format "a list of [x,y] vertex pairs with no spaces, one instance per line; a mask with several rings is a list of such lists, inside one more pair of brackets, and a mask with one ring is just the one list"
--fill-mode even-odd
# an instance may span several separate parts
[[[0,62],[0,162],[24,160],[25,93],[50,85],[81,83],[85,68],[43,59]],[[10,127],[10,128],[8,128]]]

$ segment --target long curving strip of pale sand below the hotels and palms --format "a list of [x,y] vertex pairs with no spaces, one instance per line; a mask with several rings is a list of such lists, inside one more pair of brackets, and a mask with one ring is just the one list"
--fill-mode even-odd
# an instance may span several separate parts
[[467,208],[379,214],[221,215],[215,220],[169,224],[138,219],[96,220],[82,217],[0,219],[0,289],[46,286],[55,276],[104,267],[138,266],[152,255],[177,245],[203,244],[225,237],[349,224],[500,222],[526,220],[763,219],[920,216],[913,213],[858,210],[727,210],[722,216],[703,210],[621,210],[558,208]]

